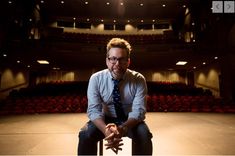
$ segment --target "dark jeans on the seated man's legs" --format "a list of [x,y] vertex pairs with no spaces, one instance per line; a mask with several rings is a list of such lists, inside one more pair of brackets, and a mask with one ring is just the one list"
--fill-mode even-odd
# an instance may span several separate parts
[[[132,155],[152,155],[152,133],[145,122],[129,129],[128,135],[132,139]],[[79,132],[78,155],[97,155],[97,143],[104,138],[104,134],[89,121]]]

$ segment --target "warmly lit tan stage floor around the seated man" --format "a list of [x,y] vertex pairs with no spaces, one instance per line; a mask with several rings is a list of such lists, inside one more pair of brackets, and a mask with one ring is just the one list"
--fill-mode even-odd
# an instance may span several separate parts
[[[87,120],[86,114],[0,116],[0,155],[76,155]],[[154,156],[235,155],[235,114],[157,112],[147,113],[146,122]]]

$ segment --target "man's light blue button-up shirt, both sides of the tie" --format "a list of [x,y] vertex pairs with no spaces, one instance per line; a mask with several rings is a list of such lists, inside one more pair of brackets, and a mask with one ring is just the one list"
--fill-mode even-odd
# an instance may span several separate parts
[[[91,121],[97,118],[116,117],[112,103],[113,81],[108,69],[94,73],[89,80],[87,114]],[[128,118],[142,121],[146,113],[147,85],[144,76],[127,69],[119,86],[121,102]]]

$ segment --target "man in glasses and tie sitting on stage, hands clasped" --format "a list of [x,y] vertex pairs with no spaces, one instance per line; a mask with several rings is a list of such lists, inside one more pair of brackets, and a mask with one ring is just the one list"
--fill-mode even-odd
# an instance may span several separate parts
[[88,117],[79,133],[78,155],[96,155],[97,142],[121,150],[122,137],[132,138],[133,155],[152,155],[152,134],[144,122],[147,85],[143,75],[128,69],[130,44],[113,38],[107,44],[106,65],[89,80]]

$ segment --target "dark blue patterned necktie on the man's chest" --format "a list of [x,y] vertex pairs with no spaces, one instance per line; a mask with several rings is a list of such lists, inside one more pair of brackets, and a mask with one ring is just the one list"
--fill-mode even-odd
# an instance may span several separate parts
[[115,107],[117,118],[120,121],[125,121],[127,118],[122,108],[121,96],[120,96],[119,87],[118,87],[119,82],[120,82],[119,80],[113,79],[113,83],[114,83],[113,94],[112,94],[113,104]]

